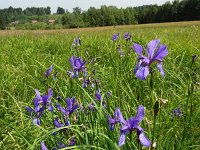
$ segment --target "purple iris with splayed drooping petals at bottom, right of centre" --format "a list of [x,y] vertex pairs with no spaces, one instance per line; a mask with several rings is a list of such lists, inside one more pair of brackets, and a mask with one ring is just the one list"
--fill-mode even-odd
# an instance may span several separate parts
[[143,118],[144,118],[143,106],[138,107],[136,117],[131,117],[128,120],[124,120],[123,116],[119,117],[119,121],[122,124],[122,127],[120,129],[121,133],[120,133],[119,143],[118,143],[119,146],[125,144],[126,135],[134,130],[137,131],[138,139],[143,146],[148,147],[151,145],[151,142],[146,137],[144,130],[139,126],[139,123],[143,120]]

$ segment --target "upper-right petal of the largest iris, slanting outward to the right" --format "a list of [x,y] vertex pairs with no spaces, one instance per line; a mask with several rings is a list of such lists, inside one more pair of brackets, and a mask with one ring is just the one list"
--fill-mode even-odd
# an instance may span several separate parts
[[163,61],[163,58],[168,55],[168,50],[166,45],[160,45],[156,54],[154,55],[152,61],[157,60],[157,61]]

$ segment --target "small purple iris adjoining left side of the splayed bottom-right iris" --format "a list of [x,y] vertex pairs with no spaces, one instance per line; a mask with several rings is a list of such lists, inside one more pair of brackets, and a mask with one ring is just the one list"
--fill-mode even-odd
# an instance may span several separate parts
[[122,113],[119,108],[116,108],[114,113],[114,118],[112,118],[109,115],[107,115],[107,117],[108,117],[108,123],[110,125],[110,130],[114,130],[115,124],[117,124],[118,122],[120,122],[120,120],[123,119]]

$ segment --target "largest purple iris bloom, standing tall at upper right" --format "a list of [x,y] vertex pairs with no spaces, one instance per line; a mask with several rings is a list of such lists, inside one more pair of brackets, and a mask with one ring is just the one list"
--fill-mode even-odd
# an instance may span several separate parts
[[160,40],[152,40],[147,45],[147,57],[142,54],[143,48],[141,45],[134,43],[133,48],[135,52],[139,55],[138,64],[134,69],[134,73],[136,77],[140,80],[145,80],[148,76],[149,72],[151,71],[151,64],[153,62],[158,62],[157,68],[160,71],[161,75],[164,76],[164,69],[162,67],[163,58],[168,55],[167,46],[162,44],[158,47]]

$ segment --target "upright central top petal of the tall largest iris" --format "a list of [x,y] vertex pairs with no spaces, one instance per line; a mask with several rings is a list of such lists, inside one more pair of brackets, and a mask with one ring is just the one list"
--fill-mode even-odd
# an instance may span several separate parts
[[147,45],[147,54],[148,54],[148,58],[152,59],[153,55],[154,55],[154,51],[156,49],[156,47],[158,46],[158,44],[160,43],[160,40],[152,40],[148,43]]

